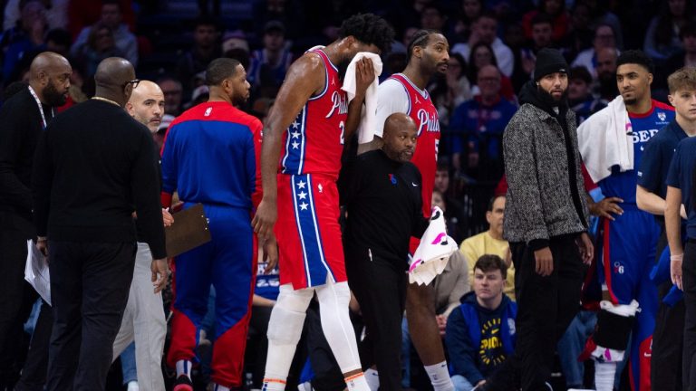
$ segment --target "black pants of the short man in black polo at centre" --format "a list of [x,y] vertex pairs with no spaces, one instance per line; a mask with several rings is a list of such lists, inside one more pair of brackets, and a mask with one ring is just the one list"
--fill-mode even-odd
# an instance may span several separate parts
[[376,257],[346,257],[345,268],[367,328],[362,366],[377,365],[380,389],[401,390],[401,319],[408,276],[405,270]]

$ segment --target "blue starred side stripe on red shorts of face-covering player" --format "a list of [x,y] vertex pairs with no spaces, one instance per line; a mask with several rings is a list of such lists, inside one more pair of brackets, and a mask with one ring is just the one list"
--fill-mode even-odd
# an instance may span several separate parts
[[[295,222],[300,236],[300,243],[302,244],[304,276],[307,279],[307,286],[324,284],[327,272],[331,272],[333,281],[335,281],[335,276],[333,276],[333,272],[326,264],[324,258],[324,247],[321,234],[319,234],[319,224],[316,222],[316,211],[314,210],[312,180],[309,175],[294,175],[291,177],[290,182],[293,186]],[[300,191],[299,193],[297,193],[298,190]],[[319,260],[321,263],[316,262],[316,260]]]

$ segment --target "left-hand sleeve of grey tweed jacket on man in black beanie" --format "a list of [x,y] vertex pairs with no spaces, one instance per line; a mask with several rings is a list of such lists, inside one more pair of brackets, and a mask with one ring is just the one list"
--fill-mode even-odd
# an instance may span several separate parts
[[548,240],[548,231],[541,210],[541,194],[536,180],[536,151],[534,129],[528,129],[513,118],[503,134],[505,173],[507,174],[508,202],[516,205],[518,223],[524,227],[525,242]]

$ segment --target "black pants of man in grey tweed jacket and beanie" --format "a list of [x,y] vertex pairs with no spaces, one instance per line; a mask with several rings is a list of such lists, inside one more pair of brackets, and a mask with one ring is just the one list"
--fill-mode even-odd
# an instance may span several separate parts
[[523,391],[547,390],[545,382],[551,375],[558,339],[580,304],[584,266],[575,237],[551,238],[554,271],[546,277],[535,272],[534,252],[525,243],[510,243],[516,269],[517,345],[492,377],[491,389],[508,391],[521,386]]

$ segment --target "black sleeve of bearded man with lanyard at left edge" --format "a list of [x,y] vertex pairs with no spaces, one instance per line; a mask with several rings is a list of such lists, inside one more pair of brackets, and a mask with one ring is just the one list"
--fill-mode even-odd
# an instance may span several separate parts
[[15,164],[22,144],[22,132],[25,119],[16,115],[10,104],[0,110],[0,199],[8,205],[16,206],[27,212],[32,209],[32,193],[29,187],[15,174]]

